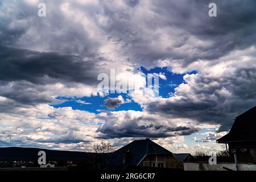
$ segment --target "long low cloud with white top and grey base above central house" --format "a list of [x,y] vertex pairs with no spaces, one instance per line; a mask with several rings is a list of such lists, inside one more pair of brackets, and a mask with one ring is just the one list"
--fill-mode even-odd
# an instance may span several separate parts
[[198,128],[187,125],[185,122],[179,123],[162,118],[160,115],[150,115],[141,111],[114,111],[98,114],[97,117],[105,121],[105,124],[97,130],[103,134],[99,138],[166,138],[190,135],[199,131]]

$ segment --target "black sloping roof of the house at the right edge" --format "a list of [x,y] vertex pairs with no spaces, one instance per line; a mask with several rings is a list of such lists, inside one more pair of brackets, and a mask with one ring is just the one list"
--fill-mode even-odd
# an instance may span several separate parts
[[256,106],[236,117],[229,133],[218,143],[256,141]]

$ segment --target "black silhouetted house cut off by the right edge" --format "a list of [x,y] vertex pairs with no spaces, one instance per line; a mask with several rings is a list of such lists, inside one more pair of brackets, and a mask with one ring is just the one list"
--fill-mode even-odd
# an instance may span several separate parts
[[229,133],[217,143],[225,143],[226,147],[228,144],[234,162],[256,163],[256,106],[238,115]]

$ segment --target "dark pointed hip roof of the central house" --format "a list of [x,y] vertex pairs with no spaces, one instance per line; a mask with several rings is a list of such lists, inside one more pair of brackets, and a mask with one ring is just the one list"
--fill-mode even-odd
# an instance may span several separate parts
[[127,151],[129,151],[131,154],[129,159],[129,166],[137,166],[137,164],[141,162],[146,154],[172,155],[172,152],[166,150],[166,148],[159,146],[159,144],[156,144],[150,139],[134,140],[133,142],[113,152],[116,164],[123,163],[123,154]]

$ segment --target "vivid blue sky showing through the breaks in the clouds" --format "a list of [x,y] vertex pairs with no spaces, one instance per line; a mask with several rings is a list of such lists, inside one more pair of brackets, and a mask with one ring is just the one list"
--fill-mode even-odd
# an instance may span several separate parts
[[[143,67],[139,68],[144,74],[148,73],[159,73],[166,77],[166,79],[159,78],[159,96],[164,98],[170,97],[172,93],[175,92],[175,88],[184,82],[183,76],[185,74],[175,74],[170,71],[167,67],[164,68],[154,68],[147,70]],[[196,72],[189,72],[189,74],[196,74]],[[110,111],[120,111],[120,110],[135,110],[142,111],[141,106],[132,101],[130,103],[124,103],[114,108],[108,108],[104,101],[108,98],[117,98],[122,96],[124,100],[127,98],[131,100],[127,93],[109,93],[108,96],[91,96],[82,98],[70,98],[70,97],[57,97],[59,100],[65,100],[63,104],[52,105],[55,108],[59,107],[72,107],[73,110],[85,110],[91,113],[100,113],[98,110],[110,110]]]

